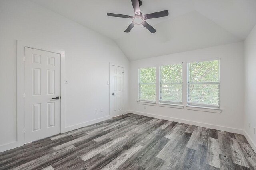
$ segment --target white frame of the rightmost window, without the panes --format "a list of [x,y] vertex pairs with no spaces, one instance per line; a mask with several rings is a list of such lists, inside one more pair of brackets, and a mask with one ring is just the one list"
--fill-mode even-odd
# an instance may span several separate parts
[[[218,60],[219,62],[219,65],[218,65],[218,68],[219,68],[219,81],[218,82],[193,82],[193,83],[190,83],[189,82],[189,69],[188,69],[188,64],[190,63],[196,63],[196,62],[206,62],[206,61],[214,61],[214,60]],[[218,96],[218,99],[219,99],[219,105],[218,106],[215,106],[215,105],[208,105],[208,104],[202,104],[202,103],[197,103],[197,102],[189,102],[188,99],[189,99],[189,86],[190,84],[218,84],[218,90],[219,90],[219,96]],[[187,63],[187,106],[191,106],[191,107],[209,107],[209,108],[220,108],[220,58],[215,58],[215,59],[206,59],[206,60],[200,60],[200,61],[191,61],[191,62],[188,62]]]

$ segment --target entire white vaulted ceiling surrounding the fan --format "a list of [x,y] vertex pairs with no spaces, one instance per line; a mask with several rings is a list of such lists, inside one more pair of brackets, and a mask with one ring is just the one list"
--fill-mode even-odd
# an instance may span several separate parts
[[168,10],[169,16],[147,20],[150,33],[128,18],[130,0],[31,0],[53,12],[114,39],[130,61],[234,43],[246,39],[256,25],[256,0],[142,0],[142,14]]

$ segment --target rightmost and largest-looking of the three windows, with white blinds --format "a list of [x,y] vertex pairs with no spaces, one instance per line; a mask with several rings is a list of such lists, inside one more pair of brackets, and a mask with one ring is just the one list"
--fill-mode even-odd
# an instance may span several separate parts
[[188,63],[188,105],[220,107],[219,63]]

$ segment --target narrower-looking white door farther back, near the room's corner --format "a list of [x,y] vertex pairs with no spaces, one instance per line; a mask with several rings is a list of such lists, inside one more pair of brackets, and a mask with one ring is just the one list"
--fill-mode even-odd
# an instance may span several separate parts
[[110,65],[110,114],[112,117],[124,113],[123,67]]

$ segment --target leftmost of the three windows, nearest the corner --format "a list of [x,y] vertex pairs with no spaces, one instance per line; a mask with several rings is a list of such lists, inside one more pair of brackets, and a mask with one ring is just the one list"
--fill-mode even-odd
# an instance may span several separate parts
[[138,100],[156,102],[156,67],[140,68]]

